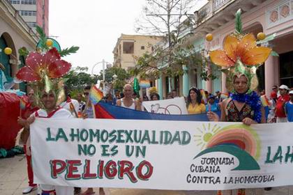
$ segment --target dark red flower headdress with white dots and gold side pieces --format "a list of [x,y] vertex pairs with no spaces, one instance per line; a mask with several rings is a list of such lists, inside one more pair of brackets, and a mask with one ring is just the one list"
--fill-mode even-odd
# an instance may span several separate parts
[[37,106],[44,108],[40,102],[42,91],[46,93],[53,91],[57,97],[56,105],[65,100],[62,77],[70,68],[71,64],[61,60],[59,52],[53,47],[47,52],[30,52],[26,59],[26,66],[17,72],[16,77],[31,83]]

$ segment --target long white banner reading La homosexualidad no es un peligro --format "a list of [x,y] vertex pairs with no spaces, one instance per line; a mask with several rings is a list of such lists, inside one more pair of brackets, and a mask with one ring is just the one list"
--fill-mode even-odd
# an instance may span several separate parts
[[213,190],[293,184],[293,123],[47,119],[31,125],[34,182]]

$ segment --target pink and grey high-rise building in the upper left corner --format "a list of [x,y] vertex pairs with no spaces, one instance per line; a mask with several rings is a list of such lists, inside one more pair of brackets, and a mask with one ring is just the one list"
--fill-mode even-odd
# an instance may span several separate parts
[[[6,1],[6,0],[5,0]],[[36,31],[36,25],[49,35],[49,0],[9,0],[25,22]]]

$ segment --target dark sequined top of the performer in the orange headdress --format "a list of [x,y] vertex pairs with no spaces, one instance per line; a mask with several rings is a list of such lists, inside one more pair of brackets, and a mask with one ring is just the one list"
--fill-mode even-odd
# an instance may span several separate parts
[[253,110],[248,104],[244,104],[242,109],[239,111],[234,104],[233,100],[228,102],[226,107],[226,118],[230,122],[241,122],[244,118],[253,119]]

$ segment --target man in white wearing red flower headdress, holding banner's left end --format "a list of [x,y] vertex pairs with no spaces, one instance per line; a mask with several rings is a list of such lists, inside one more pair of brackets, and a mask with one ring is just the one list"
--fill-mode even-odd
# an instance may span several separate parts
[[[70,111],[59,107],[61,102],[66,100],[62,77],[68,73],[70,68],[71,64],[61,60],[59,52],[54,47],[52,49],[44,48],[42,53],[30,52],[27,56],[26,65],[18,70],[16,77],[21,81],[31,83],[36,93],[36,106],[40,109],[23,121],[24,131],[20,136],[22,141],[30,140],[29,127],[35,118],[59,118],[63,120],[73,118]],[[33,150],[32,147],[32,154]],[[33,162],[36,162],[40,156],[33,154],[32,158]],[[33,169],[35,169],[34,166]],[[39,180],[34,182],[40,183]],[[42,189],[41,195],[73,195],[74,191],[73,187],[46,184],[40,184],[40,189]]]

